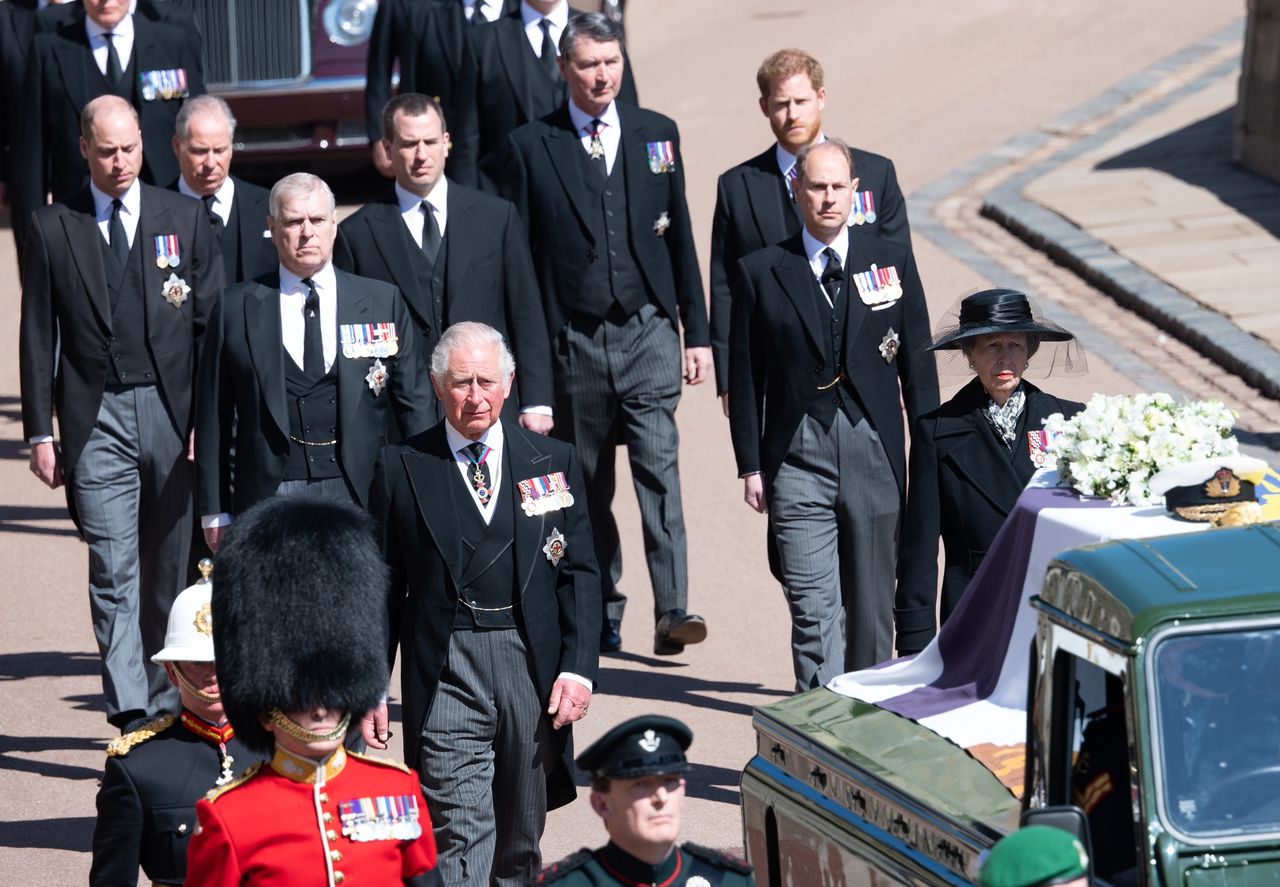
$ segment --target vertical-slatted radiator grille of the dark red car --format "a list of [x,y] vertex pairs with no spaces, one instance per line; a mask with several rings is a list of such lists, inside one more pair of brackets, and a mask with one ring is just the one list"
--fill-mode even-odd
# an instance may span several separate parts
[[307,0],[170,0],[200,27],[210,87],[296,81],[311,67]]

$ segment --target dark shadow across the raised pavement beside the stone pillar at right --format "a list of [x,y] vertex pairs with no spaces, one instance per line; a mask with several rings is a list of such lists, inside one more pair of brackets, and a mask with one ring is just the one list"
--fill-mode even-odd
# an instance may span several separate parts
[[1155,169],[1211,192],[1280,237],[1280,186],[1231,163],[1235,106],[1117,154],[1097,169]]

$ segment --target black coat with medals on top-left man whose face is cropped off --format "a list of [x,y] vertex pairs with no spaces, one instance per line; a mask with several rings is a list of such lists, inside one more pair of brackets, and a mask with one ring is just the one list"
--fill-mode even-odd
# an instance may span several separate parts
[[[187,72],[188,92],[198,96],[205,91],[198,36],[193,29],[134,15],[131,65],[136,78],[148,70],[182,68]],[[147,184],[165,187],[178,178],[172,140],[182,99],[157,96],[146,101],[137,82],[133,87],[142,125],[141,178]],[[59,200],[88,182],[79,154],[79,115],[84,105],[105,92],[106,81],[93,61],[84,32],[84,10],[76,5],[70,14],[59,15],[52,31],[36,35],[27,64],[22,124],[14,134],[13,204],[19,236],[24,234],[27,216],[45,202],[46,191]]]

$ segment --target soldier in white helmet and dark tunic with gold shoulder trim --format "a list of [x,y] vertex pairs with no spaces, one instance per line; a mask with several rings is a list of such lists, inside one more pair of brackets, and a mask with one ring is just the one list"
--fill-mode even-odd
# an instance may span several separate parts
[[223,712],[214,667],[210,561],[202,579],[173,602],[163,664],[182,696],[182,713],[165,714],[111,740],[97,792],[90,884],[138,883],[138,865],[156,884],[180,884],[187,841],[196,831],[196,801],[233,778],[257,755],[241,745]]

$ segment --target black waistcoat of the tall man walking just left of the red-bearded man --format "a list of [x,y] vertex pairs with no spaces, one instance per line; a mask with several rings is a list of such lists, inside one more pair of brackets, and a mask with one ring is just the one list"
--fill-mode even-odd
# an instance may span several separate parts
[[649,302],[649,291],[640,275],[640,265],[631,252],[631,224],[627,215],[626,175],[622,172],[622,145],[613,159],[613,170],[607,179],[591,168],[591,159],[581,151],[580,165],[591,196],[591,234],[595,250],[582,275],[582,303],[579,311],[603,317],[618,305],[626,316],[634,315]]

